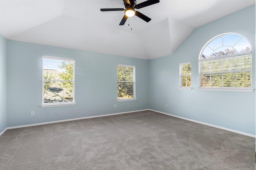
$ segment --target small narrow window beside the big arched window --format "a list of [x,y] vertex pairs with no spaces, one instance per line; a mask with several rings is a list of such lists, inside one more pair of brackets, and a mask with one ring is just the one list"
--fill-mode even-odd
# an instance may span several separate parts
[[191,90],[191,62],[180,63],[180,90]]

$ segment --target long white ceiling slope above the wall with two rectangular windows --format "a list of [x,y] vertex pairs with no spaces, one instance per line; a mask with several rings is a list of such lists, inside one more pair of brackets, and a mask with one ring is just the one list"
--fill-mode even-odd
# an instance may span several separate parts
[[102,29],[95,23],[94,27],[88,27],[88,24],[91,23],[62,15],[10,39],[145,59],[138,35],[111,27]]

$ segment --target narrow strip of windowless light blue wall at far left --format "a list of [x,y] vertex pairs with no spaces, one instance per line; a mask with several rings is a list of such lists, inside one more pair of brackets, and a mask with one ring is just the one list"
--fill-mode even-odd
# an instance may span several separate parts
[[0,34],[0,133],[7,127],[7,39]]

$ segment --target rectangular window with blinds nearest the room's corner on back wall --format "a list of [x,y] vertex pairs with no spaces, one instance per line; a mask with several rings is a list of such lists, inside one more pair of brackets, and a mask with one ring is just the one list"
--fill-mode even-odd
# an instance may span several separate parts
[[136,100],[135,98],[135,66],[117,65],[117,101]]

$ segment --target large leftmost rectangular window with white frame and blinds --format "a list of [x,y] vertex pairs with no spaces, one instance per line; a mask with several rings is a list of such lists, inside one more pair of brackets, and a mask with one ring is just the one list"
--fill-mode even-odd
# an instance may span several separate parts
[[74,105],[74,59],[42,56],[43,104],[41,107]]

